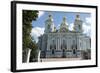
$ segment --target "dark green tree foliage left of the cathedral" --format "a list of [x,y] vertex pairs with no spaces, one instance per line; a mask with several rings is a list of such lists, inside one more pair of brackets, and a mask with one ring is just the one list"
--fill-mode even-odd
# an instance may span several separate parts
[[38,17],[38,11],[32,11],[32,10],[23,10],[22,12],[23,17],[23,62],[26,62],[27,60],[27,53],[28,48],[36,50],[36,43],[32,41],[31,38],[31,30],[32,30],[32,20],[36,20]]

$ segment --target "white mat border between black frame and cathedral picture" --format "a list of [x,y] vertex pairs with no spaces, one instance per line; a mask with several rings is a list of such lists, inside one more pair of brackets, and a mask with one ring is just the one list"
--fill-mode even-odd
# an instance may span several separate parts
[[[81,61],[61,61],[61,62],[42,62],[42,63],[22,63],[22,10],[49,10],[49,11],[65,11],[65,12],[84,12],[91,13],[91,60]],[[60,7],[60,6],[45,6],[45,5],[28,5],[17,4],[17,70],[21,69],[37,69],[37,68],[51,68],[51,67],[70,67],[70,66],[83,66],[83,65],[95,65],[96,50],[94,45],[95,40],[95,9],[79,8],[79,7]]]

